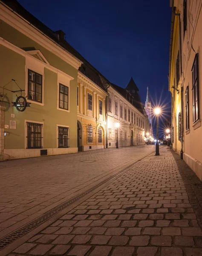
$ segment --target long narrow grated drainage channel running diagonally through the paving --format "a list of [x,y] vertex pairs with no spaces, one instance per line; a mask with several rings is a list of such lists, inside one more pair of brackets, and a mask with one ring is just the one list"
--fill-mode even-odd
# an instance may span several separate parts
[[[92,192],[93,190],[97,189],[99,186],[102,186],[104,183],[107,183],[108,181],[112,180],[115,177],[120,176],[123,172],[129,171],[131,167],[133,167],[136,163],[139,163],[139,161],[145,159],[146,157],[149,157],[151,154],[153,154],[155,151],[150,152],[149,154],[145,155],[139,160],[136,160],[129,166],[125,167],[124,169],[121,169],[121,171],[116,172],[114,175],[102,180],[100,183],[96,184],[95,186],[92,186],[90,189],[87,189],[83,193],[76,195],[75,197],[71,198],[70,200],[66,201],[65,203],[59,205],[58,207],[55,207],[54,209],[50,210],[49,212],[43,214],[39,218],[36,218],[34,221],[30,222],[29,224],[26,224],[24,227],[21,227],[19,230],[14,231],[13,233],[9,234],[8,236],[4,237],[0,240],[0,250],[8,246],[9,244],[12,244],[12,242],[16,241],[17,239],[20,239],[22,236],[28,234],[35,228],[39,227],[41,224],[44,224],[46,221],[49,221],[50,218],[54,217],[58,213],[62,212],[67,207],[71,206],[75,202],[79,201],[81,198]],[[48,223],[47,225],[49,225]],[[6,254],[5,254],[6,255]]]

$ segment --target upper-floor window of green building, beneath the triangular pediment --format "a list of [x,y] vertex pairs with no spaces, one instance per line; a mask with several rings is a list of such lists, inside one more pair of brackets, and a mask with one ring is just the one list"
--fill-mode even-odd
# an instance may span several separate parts
[[28,70],[27,98],[35,102],[42,102],[42,75]]

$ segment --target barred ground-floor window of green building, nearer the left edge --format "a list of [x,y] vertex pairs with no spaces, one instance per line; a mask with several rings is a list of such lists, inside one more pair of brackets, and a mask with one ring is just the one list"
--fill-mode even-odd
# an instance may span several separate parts
[[43,124],[26,122],[27,148],[43,148]]

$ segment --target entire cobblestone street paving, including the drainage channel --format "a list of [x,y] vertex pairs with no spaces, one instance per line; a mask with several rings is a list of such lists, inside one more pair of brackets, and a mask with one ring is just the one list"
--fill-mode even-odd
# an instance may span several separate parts
[[202,256],[202,183],[154,149],[0,163],[0,255]]

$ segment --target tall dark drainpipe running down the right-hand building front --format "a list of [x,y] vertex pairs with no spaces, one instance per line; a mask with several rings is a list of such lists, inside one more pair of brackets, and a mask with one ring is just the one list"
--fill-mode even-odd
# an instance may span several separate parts
[[[180,22],[180,14],[174,13],[174,16],[179,17],[179,52],[180,52],[180,77],[182,77],[182,28]],[[184,102],[183,102],[183,85],[180,79],[181,88],[181,151],[180,158],[183,159],[183,145],[184,145]]]

